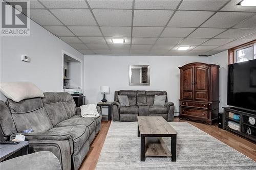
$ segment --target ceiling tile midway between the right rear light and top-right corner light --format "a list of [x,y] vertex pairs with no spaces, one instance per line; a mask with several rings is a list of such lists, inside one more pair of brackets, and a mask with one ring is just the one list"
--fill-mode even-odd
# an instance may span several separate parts
[[219,28],[198,28],[188,38],[212,38],[225,30]]

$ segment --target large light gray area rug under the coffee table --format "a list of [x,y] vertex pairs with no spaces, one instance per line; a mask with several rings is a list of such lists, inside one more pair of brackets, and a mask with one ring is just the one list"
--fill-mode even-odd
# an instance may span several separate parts
[[[256,162],[186,122],[170,122],[178,132],[177,161],[140,161],[137,122],[112,122],[96,169],[256,169]],[[170,149],[170,138],[163,138]]]

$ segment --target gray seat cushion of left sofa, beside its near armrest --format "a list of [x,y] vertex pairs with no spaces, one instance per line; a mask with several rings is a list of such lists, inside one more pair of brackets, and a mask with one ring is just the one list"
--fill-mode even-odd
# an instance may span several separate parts
[[89,129],[83,125],[76,126],[64,126],[64,127],[54,127],[50,132],[65,132],[70,134],[74,145],[74,154],[79,153],[82,145],[87,141],[90,136]]

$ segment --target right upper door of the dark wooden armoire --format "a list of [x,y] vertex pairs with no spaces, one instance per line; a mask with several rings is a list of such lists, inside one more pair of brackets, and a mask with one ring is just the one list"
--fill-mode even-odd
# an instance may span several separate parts
[[208,74],[206,67],[195,67],[195,100],[208,101]]

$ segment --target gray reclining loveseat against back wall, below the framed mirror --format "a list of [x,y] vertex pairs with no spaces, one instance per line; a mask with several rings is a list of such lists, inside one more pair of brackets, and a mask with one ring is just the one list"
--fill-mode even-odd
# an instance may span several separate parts
[[[115,91],[115,99],[112,106],[114,121],[137,121],[137,116],[163,116],[167,121],[173,121],[174,103],[167,102],[164,106],[153,106],[156,95],[166,95],[166,91]],[[118,95],[127,95],[130,106],[120,106]]]

